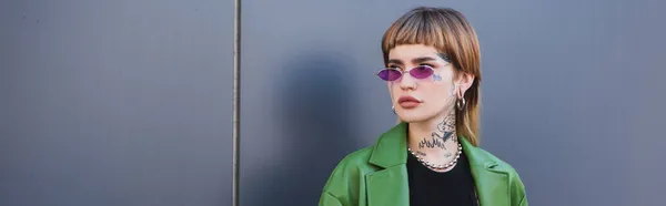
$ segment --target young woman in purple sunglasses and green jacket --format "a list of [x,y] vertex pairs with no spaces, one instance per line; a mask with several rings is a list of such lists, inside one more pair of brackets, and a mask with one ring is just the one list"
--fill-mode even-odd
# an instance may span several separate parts
[[478,145],[481,54],[462,13],[416,8],[384,33],[400,123],[335,167],[321,206],[526,206],[523,182]]

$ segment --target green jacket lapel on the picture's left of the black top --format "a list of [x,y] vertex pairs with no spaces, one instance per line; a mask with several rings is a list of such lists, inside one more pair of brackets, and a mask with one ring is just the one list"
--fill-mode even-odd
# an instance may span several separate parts
[[370,163],[383,169],[365,176],[369,206],[410,205],[405,134],[406,123],[401,123],[377,141]]

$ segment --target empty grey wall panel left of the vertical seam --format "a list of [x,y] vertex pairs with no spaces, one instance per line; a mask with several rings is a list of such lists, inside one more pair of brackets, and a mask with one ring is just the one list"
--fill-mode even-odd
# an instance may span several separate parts
[[233,1],[0,3],[0,205],[231,204]]

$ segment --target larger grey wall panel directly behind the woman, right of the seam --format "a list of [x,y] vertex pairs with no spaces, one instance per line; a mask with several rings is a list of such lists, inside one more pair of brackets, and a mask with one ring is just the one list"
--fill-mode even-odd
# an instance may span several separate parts
[[[242,205],[315,205],[395,119],[380,40],[411,1],[243,1]],[[418,1],[480,34],[483,147],[532,205],[663,205],[664,1]]]

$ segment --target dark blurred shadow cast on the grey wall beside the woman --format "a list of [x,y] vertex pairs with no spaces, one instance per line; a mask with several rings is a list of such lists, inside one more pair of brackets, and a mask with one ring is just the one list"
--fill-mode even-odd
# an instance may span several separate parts
[[[248,205],[316,205],[331,172],[355,150],[351,131],[354,70],[337,53],[296,55],[279,76],[273,120],[282,128],[281,162],[255,179]],[[243,204],[245,205],[245,204]]]

